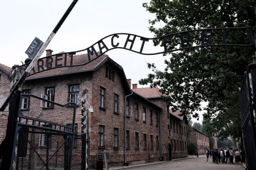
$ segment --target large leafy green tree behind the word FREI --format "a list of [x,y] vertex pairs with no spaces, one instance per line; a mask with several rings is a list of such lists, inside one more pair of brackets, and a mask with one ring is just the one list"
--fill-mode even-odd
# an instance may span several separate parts
[[[256,0],[151,0],[143,6],[156,16],[149,20],[149,30],[158,37],[192,29],[255,26],[255,4]],[[216,36],[210,41],[219,42],[222,33],[212,34]],[[226,42],[248,44],[247,34],[229,33]],[[201,44],[199,33],[191,36],[197,37],[191,44]],[[180,37],[173,36],[167,50],[179,46],[179,41]],[[154,44],[163,46],[163,40],[156,40]],[[154,73],[139,83],[158,86],[160,92],[168,96],[163,98],[172,110],[180,109],[182,114],[191,114],[197,119],[198,111],[202,110],[200,103],[208,102],[205,119],[209,120],[209,131],[220,131],[222,138],[242,137],[241,126],[235,124],[241,125],[237,89],[252,62],[253,53],[253,47],[230,46],[168,53],[165,55],[170,58],[164,61],[164,71],[157,70],[154,63],[148,63]]]

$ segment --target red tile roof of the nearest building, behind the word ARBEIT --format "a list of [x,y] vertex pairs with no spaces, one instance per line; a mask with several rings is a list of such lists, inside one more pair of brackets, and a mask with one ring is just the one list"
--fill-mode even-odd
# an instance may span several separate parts
[[[51,56],[53,61],[52,65],[55,65],[55,56]],[[57,76],[57,75],[63,75],[63,74],[72,74],[72,73],[79,73],[79,72],[87,72],[87,71],[93,71],[95,68],[97,68],[100,63],[102,63],[105,59],[108,58],[108,55],[103,54],[100,57],[96,58],[96,55],[90,56],[91,62],[87,63],[88,55],[87,54],[81,54],[81,55],[74,55],[73,56],[73,63],[72,66],[64,66],[64,54],[62,55],[62,60],[58,60],[58,65],[62,65],[64,67],[52,67],[50,69],[46,69],[44,71],[37,72],[37,64],[35,64],[34,68],[36,73],[33,71],[30,72],[30,75],[26,78],[29,79],[36,79],[36,78],[43,78],[43,77],[49,77],[49,76]],[[95,59],[96,58],[96,59]],[[42,58],[44,63],[46,63],[46,57]],[[93,60],[94,59],[94,60]],[[71,58],[67,56],[66,63],[70,63]],[[48,61],[49,62],[49,61]],[[85,64],[87,63],[87,64]]]

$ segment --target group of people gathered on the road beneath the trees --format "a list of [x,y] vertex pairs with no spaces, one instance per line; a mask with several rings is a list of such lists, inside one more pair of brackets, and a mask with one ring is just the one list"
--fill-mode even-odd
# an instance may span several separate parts
[[245,154],[243,150],[238,151],[238,149],[233,150],[233,148],[221,148],[221,149],[213,149],[206,151],[206,158],[208,162],[208,158],[212,157],[212,163],[215,164],[234,164],[234,158],[235,162],[238,164],[238,162],[244,163],[245,162]]

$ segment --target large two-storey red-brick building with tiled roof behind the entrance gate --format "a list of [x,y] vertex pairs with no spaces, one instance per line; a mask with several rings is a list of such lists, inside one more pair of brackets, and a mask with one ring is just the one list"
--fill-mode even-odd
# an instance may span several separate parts
[[[38,60],[22,90],[60,104],[77,103],[75,120],[78,134],[81,133],[81,91],[88,90],[88,107],[93,109],[89,112],[91,166],[96,165],[97,153],[103,151],[109,152],[108,163],[112,165],[169,160],[170,155],[172,158],[186,157],[186,116],[169,112],[159,89],[137,89],[136,84],[132,87],[131,90],[131,79],[126,79],[123,68],[107,55],[98,58],[95,53],[89,56],[52,55],[52,50],[46,50],[46,57]],[[31,112],[29,102],[32,101],[22,103],[23,112]],[[47,102],[38,103],[37,109],[46,113],[41,115],[44,120],[57,119],[57,123],[63,125],[72,123],[68,119],[70,115],[60,114]],[[168,137],[172,127],[176,133]],[[41,140],[37,141],[39,150],[44,149]],[[173,146],[172,154],[166,148],[168,145]]]

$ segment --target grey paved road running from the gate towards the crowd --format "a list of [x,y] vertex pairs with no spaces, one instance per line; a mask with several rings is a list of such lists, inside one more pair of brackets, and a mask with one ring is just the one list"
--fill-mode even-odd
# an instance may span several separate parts
[[206,162],[205,155],[199,155],[199,158],[187,158],[175,161],[167,161],[155,165],[139,166],[127,169],[138,169],[138,170],[244,170],[244,166],[241,164],[214,164],[212,158],[209,158],[209,163]]

